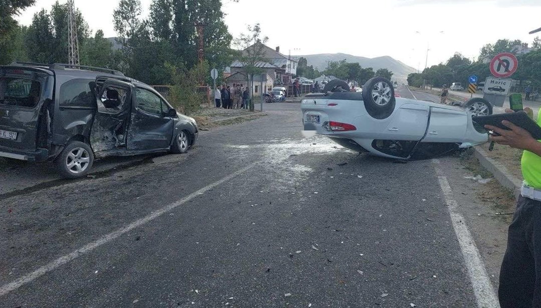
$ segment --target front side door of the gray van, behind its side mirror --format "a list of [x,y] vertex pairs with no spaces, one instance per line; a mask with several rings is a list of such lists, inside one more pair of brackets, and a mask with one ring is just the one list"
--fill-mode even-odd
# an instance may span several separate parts
[[128,149],[167,149],[173,138],[174,120],[159,94],[146,88],[134,89],[133,112],[128,130]]

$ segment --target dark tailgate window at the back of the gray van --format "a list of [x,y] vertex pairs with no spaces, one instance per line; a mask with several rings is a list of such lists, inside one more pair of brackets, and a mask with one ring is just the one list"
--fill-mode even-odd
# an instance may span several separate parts
[[32,108],[43,95],[45,74],[21,69],[0,69],[0,104]]

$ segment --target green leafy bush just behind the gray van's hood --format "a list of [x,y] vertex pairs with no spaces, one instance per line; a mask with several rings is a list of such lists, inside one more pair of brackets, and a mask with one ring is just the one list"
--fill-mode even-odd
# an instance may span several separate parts
[[180,113],[190,115],[201,108],[206,102],[206,93],[198,93],[197,86],[204,76],[208,74],[209,64],[207,61],[187,69],[184,65],[176,67],[166,63],[165,67],[170,71],[173,86],[169,93],[168,101]]

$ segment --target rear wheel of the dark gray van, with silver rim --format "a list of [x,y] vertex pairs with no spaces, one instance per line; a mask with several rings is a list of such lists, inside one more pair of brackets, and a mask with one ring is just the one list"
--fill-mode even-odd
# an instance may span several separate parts
[[71,141],[56,158],[58,173],[62,178],[77,179],[87,175],[94,163],[94,153],[89,145]]

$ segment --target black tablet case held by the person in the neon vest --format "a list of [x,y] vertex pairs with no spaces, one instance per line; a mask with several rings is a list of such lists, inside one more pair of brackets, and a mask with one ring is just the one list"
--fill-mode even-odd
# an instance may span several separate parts
[[473,122],[483,126],[492,125],[505,130],[510,130],[509,127],[502,124],[503,120],[507,120],[518,127],[522,127],[534,137],[536,140],[541,140],[541,127],[523,111],[515,113],[502,113],[492,115],[479,115],[472,117]]

